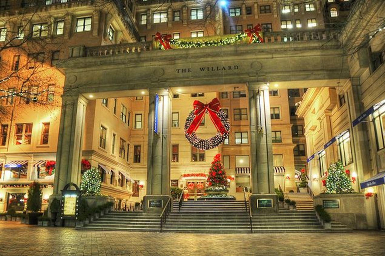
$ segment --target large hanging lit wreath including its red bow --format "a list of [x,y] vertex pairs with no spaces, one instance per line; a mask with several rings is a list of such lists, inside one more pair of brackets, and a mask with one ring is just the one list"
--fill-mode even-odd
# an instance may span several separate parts
[[[199,100],[194,101],[194,110],[187,116],[184,123],[184,134],[188,142],[196,148],[208,150],[219,146],[229,136],[230,121],[221,109],[218,98],[214,98],[211,102],[204,104]],[[210,119],[214,123],[218,132],[214,137],[202,139],[195,133],[199,128],[205,114],[208,113]]]

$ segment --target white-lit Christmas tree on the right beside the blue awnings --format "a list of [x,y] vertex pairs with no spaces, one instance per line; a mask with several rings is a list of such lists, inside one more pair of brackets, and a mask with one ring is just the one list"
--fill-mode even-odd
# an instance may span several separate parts
[[331,163],[328,168],[326,178],[326,192],[336,194],[353,192],[350,178],[343,169],[341,161]]

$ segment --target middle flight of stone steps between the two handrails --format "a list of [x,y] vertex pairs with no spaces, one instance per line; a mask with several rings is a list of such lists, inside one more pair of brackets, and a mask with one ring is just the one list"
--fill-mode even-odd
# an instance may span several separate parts
[[180,211],[177,209],[174,207],[168,215],[163,231],[250,233],[249,212],[244,201],[184,201]]

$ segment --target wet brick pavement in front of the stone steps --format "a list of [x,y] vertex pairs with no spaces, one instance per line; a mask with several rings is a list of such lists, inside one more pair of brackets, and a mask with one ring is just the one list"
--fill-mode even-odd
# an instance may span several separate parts
[[385,232],[181,234],[0,221],[0,255],[384,255]]

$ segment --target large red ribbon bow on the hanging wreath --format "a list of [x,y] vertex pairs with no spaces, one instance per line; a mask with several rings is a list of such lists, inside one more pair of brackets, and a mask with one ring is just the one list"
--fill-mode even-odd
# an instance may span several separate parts
[[221,119],[218,116],[218,112],[221,109],[221,105],[219,103],[218,98],[214,98],[210,103],[204,104],[199,100],[195,100],[193,103],[195,108],[194,114],[195,117],[191,122],[190,126],[188,126],[186,133],[190,134],[195,132],[199,125],[202,122],[203,117],[205,116],[206,111],[209,112],[210,118],[213,121],[215,127],[221,134],[228,132],[223,125]]

